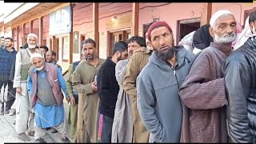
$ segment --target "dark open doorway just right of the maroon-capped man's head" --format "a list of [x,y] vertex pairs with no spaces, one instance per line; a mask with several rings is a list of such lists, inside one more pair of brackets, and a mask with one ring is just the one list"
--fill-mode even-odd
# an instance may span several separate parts
[[176,36],[176,44],[182,40],[186,36],[186,34],[190,34],[190,32],[194,30],[198,30],[200,28],[201,18],[192,18],[178,21],[178,33]]

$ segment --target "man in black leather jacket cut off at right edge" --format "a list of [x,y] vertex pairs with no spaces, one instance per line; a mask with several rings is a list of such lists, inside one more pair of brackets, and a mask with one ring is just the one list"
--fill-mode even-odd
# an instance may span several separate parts
[[[256,33],[256,12],[250,14],[250,30]],[[256,144],[256,38],[248,40],[226,59],[225,78],[229,142]]]

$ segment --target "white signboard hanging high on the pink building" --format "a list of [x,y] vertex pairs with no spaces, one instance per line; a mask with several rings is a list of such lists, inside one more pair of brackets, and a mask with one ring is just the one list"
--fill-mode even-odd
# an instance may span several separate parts
[[65,6],[62,9],[50,13],[49,34],[66,34],[71,31],[71,7]]

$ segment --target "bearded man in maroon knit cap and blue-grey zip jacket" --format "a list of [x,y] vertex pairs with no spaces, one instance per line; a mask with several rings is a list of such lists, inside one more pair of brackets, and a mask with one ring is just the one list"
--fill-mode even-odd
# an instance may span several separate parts
[[137,78],[138,113],[150,131],[150,142],[179,142],[182,102],[178,89],[194,54],[183,46],[174,47],[174,35],[166,22],[154,22],[147,32],[154,52]]

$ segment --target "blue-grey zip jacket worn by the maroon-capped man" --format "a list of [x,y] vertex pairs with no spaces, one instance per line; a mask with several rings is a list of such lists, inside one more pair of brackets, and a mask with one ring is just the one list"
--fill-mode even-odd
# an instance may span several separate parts
[[178,89],[189,72],[194,54],[183,47],[177,50],[174,70],[154,52],[137,78],[138,112],[154,142],[180,141],[182,101]]

